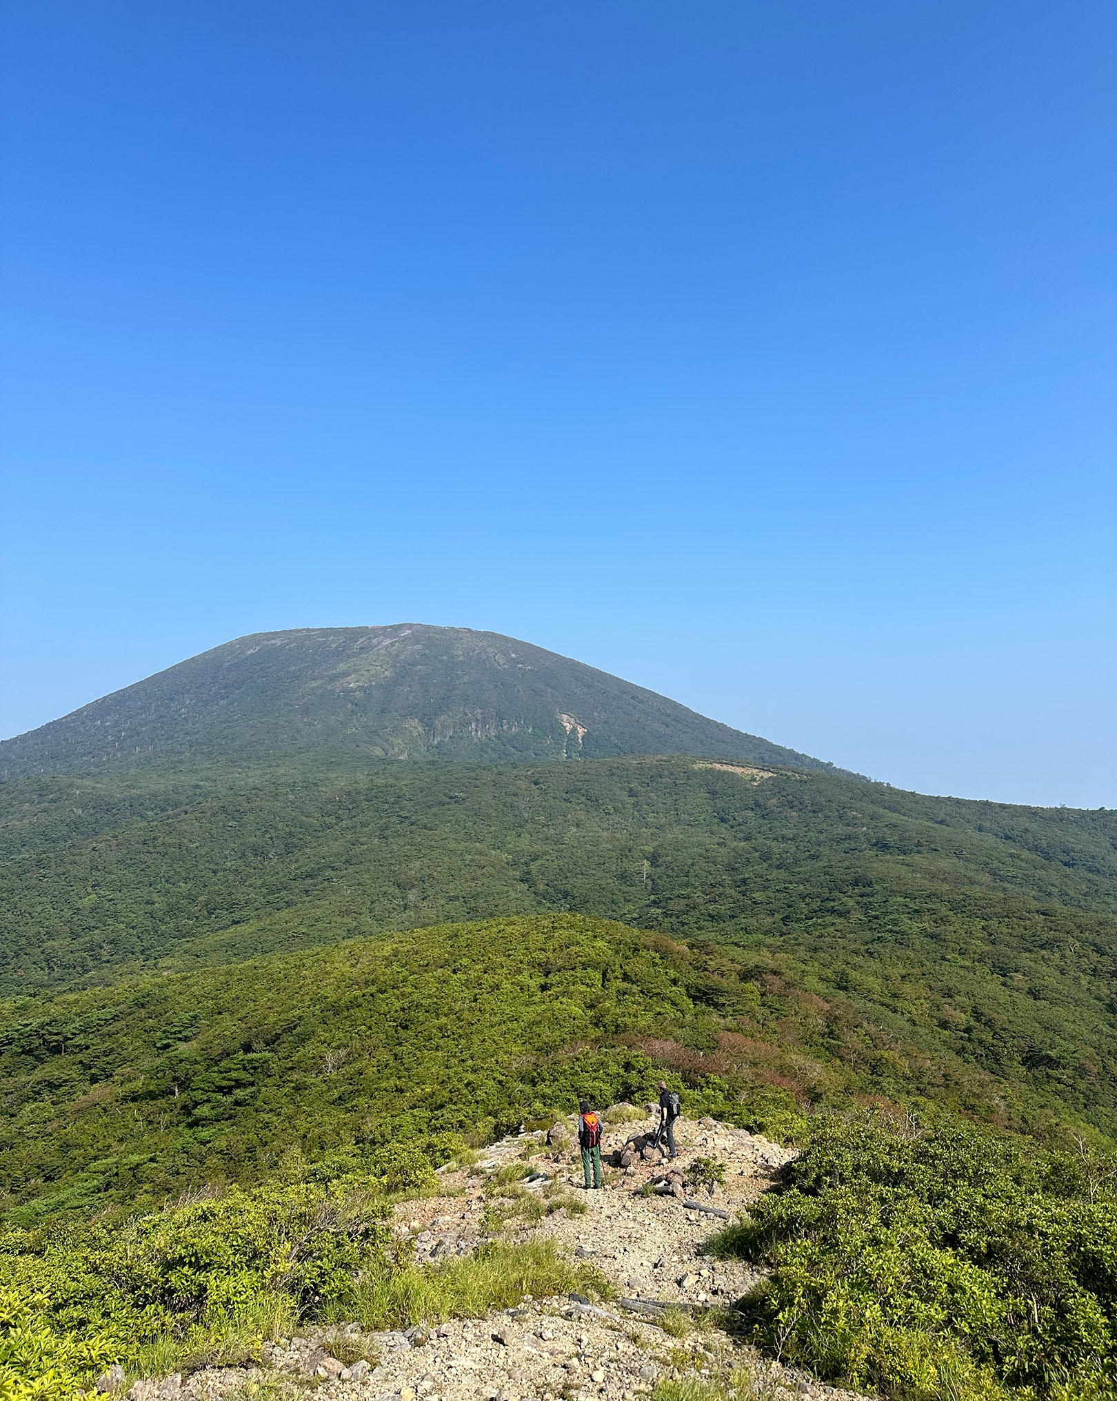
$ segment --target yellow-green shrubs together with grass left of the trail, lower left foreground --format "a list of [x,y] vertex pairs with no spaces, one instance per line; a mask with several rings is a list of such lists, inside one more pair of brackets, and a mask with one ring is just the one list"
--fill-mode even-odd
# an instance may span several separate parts
[[129,1376],[240,1365],[306,1320],[398,1328],[604,1286],[551,1241],[411,1265],[387,1182],[430,1171],[412,1152],[406,1171],[277,1174],[151,1213],[0,1229],[0,1397],[69,1401],[116,1362]]

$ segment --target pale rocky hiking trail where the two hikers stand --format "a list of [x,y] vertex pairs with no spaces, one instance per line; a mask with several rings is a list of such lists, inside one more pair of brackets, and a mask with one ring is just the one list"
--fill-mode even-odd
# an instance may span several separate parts
[[[610,1302],[528,1297],[486,1318],[399,1332],[307,1327],[301,1337],[265,1344],[259,1367],[139,1381],[128,1395],[294,1401],[313,1391],[318,1401],[636,1401],[659,1381],[691,1377],[758,1401],[863,1401],[764,1360],[718,1324],[718,1311],[730,1309],[761,1272],[708,1258],[702,1243],[765,1191],[792,1153],[744,1129],[684,1118],[676,1128],[678,1157],[666,1163],[646,1149],[657,1122],[652,1110],[614,1105],[604,1112],[601,1189],[582,1185],[572,1117],[547,1133],[493,1143],[468,1167],[448,1164],[436,1195],[405,1201],[394,1215],[397,1237],[413,1243],[419,1264],[467,1255],[498,1234],[551,1238],[559,1252],[601,1272],[615,1289]],[[695,1160],[723,1164],[723,1180],[687,1185]],[[100,1383],[98,1390],[115,1388]]]

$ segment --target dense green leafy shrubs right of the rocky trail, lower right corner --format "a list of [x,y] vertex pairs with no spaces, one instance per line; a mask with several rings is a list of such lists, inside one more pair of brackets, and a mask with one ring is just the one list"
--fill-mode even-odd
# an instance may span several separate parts
[[713,1248],[772,1268],[755,1335],[823,1376],[904,1401],[1117,1395],[1117,1202],[1086,1160],[820,1119]]

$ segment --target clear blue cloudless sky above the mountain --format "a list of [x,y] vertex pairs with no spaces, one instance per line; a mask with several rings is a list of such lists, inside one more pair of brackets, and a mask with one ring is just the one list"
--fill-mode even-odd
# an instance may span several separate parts
[[1117,10],[7,6],[0,733],[526,637],[1117,806]]

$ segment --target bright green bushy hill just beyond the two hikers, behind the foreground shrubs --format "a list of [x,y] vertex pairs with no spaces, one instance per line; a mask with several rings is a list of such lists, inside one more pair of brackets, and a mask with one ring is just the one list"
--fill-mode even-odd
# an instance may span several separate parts
[[[779,957],[570,915],[364,939],[0,1013],[0,1210],[153,1206],[292,1154],[643,1100],[660,1075],[768,1132],[903,1097],[1054,1124],[1057,1098],[897,1040]],[[24,1203],[27,1206],[21,1212]]]

